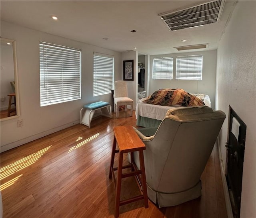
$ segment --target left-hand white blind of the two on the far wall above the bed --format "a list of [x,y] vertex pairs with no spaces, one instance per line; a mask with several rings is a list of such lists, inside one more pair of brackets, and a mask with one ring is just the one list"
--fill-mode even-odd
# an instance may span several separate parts
[[152,79],[172,79],[173,58],[153,59]]

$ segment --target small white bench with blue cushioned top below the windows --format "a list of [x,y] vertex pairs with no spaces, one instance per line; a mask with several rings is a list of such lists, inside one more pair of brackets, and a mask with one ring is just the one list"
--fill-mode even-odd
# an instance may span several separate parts
[[[85,110],[85,112],[84,112]],[[91,127],[91,121],[96,110],[101,110],[101,115],[111,118],[111,105],[108,102],[94,102],[84,105],[80,110],[80,124]]]

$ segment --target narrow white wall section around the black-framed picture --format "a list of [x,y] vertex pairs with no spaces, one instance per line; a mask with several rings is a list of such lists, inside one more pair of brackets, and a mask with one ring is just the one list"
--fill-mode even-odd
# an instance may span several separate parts
[[129,51],[129,52],[123,52],[122,53],[122,70],[121,75],[123,78],[123,61],[133,60],[133,81],[126,81],[127,82],[127,88],[128,88],[128,97],[133,100],[133,110],[136,109],[136,102],[138,100],[138,51]]

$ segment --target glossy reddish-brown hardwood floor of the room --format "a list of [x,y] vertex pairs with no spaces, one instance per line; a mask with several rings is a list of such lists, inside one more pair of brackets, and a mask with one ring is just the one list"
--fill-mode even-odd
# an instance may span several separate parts
[[[99,117],[1,153],[3,217],[114,217],[115,189],[108,179],[113,127],[136,126],[135,115]],[[115,166],[117,164],[115,158]],[[126,158],[124,158],[126,159]],[[121,200],[140,194],[133,177],[122,180]],[[120,206],[120,218],[226,218],[214,147],[202,174],[202,196],[158,208],[149,200]]]

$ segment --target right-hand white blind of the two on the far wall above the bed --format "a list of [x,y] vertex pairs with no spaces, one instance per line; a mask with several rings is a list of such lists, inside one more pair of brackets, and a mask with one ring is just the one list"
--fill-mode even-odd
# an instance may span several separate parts
[[177,57],[176,79],[202,80],[202,65],[202,55]]

